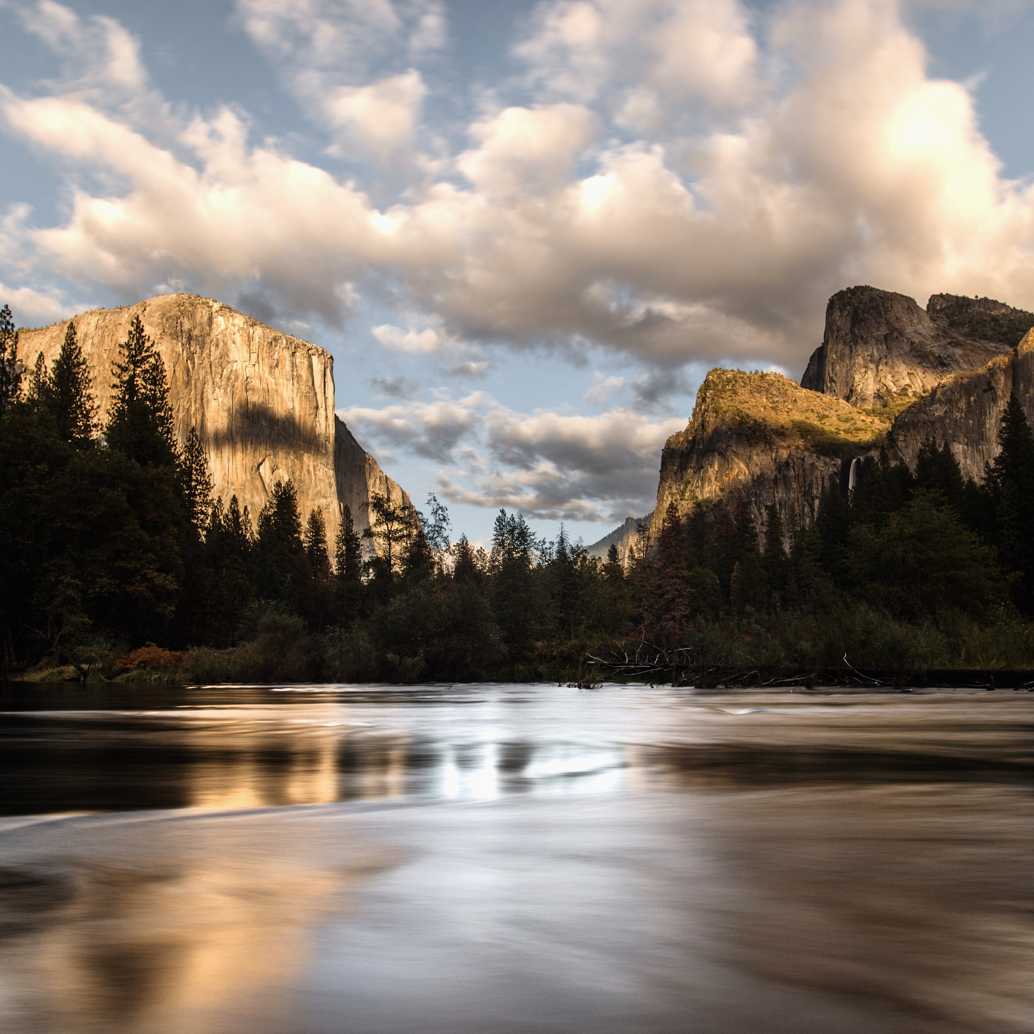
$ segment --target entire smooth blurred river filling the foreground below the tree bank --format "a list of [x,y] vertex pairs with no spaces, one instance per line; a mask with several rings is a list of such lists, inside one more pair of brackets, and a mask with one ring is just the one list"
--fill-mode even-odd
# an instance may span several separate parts
[[1034,694],[0,712],[7,1034],[1034,1031]]

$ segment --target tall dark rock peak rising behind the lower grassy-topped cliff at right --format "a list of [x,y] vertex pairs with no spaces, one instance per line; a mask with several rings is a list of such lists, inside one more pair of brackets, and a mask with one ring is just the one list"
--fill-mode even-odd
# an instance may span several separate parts
[[[969,303],[968,305],[966,303]],[[981,305],[997,310],[981,309]],[[974,320],[982,313],[997,320]],[[1001,340],[1001,317],[1021,313],[990,299],[935,295],[927,311],[905,295],[848,287],[829,299],[822,344],[808,362],[802,388],[856,406],[892,406],[924,395],[959,370],[983,366],[1016,344]],[[1034,316],[1027,324],[1034,325]],[[991,340],[969,336],[981,330]],[[998,332],[996,334],[996,332]]]

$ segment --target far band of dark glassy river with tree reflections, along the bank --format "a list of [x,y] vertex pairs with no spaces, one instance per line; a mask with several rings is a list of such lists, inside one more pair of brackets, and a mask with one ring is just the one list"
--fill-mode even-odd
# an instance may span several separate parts
[[51,699],[0,699],[7,814],[1034,772],[1026,695],[151,690],[38,709]]

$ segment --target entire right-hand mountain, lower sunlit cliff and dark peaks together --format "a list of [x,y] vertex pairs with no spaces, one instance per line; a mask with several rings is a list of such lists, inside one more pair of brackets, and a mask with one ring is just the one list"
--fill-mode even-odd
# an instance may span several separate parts
[[1034,313],[987,298],[913,299],[870,286],[829,300],[822,344],[800,385],[777,373],[714,369],[685,431],[661,454],[656,538],[669,503],[682,516],[744,495],[758,527],[777,503],[787,524],[814,519],[830,477],[885,448],[914,466],[922,443],[948,443],[980,480],[1015,392],[1034,419]]

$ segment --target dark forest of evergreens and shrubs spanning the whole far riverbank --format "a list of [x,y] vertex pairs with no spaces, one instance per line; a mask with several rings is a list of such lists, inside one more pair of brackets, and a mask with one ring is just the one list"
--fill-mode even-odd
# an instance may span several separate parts
[[[374,497],[258,514],[212,497],[174,434],[166,372],[136,320],[100,427],[69,323],[48,369],[0,312],[0,622],[7,678],[367,681],[693,677],[722,668],[1034,668],[1034,435],[1012,398],[982,483],[949,444],[883,454],[817,519],[758,526],[744,498],[673,508],[628,564],[500,511],[489,548],[446,508]],[[653,670],[656,669],[656,670]],[[651,673],[652,672],[652,673]]]

